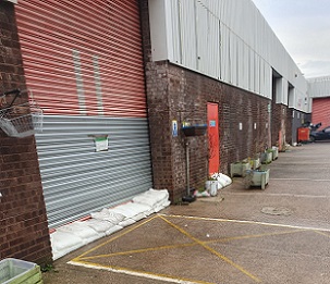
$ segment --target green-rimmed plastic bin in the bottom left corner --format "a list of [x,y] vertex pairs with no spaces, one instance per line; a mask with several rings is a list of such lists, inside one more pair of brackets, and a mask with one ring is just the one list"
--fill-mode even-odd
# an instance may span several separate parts
[[41,284],[40,268],[33,262],[7,258],[0,261],[0,284]]

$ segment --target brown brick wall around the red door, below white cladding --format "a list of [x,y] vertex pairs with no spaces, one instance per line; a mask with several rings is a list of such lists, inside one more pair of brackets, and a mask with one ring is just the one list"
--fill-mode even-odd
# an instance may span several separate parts
[[[186,193],[186,138],[180,132],[178,137],[172,136],[172,121],[176,120],[179,127],[186,120],[205,123],[207,102],[219,103],[220,168],[228,174],[231,162],[253,157],[270,146],[266,127],[270,126],[270,100],[167,61],[152,62],[148,1],[140,1],[140,5],[154,185],[168,188],[171,199],[176,201]],[[208,175],[208,140],[201,136],[188,138],[188,143],[190,184],[197,189]]]

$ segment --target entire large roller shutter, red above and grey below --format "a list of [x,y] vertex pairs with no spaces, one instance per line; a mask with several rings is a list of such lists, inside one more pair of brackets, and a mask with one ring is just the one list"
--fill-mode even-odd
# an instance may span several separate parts
[[36,140],[50,227],[147,190],[138,1],[20,0],[16,18],[27,87],[45,111]]

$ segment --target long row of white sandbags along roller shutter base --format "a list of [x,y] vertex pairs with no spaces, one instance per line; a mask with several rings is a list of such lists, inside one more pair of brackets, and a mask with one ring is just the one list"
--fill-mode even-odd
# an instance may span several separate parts
[[167,189],[150,188],[134,197],[130,202],[110,209],[105,208],[100,212],[90,213],[90,219],[86,221],[76,221],[61,226],[50,234],[53,259],[65,256],[100,237],[111,235],[151,213],[159,212],[169,205]]

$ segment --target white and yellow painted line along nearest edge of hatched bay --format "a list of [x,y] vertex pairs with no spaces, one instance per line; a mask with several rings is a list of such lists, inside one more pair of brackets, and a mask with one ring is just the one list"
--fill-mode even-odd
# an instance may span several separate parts
[[86,261],[73,261],[72,260],[72,261],[69,261],[68,263],[73,264],[73,266],[84,267],[84,268],[107,270],[107,271],[114,272],[114,273],[124,273],[127,275],[142,276],[142,277],[147,277],[147,279],[151,279],[151,280],[160,280],[160,281],[166,281],[166,282],[171,282],[171,283],[216,284],[216,283],[210,283],[210,282],[205,282],[205,281],[178,279],[178,277],[173,277],[173,276],[166,275],[166,274],[150,273],[150,272],[138,271],[138,270],[127,270],[127,269],[120,268],[120,267],[101,266],[98,263],[91,263],[91,262],[86,262]]

